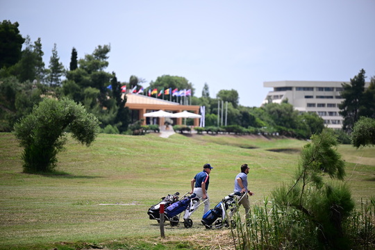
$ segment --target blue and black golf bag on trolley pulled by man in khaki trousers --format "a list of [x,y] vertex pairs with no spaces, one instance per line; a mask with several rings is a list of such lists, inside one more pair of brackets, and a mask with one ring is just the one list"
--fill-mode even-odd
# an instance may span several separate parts
[[[209,210],[207,213],[205,213],[201,219],[201,222],[206,228],[219,228],[222,226],[228,227],[228,219],[226,219],[226,210],[228,208],[231,209],[231,211],[235,210],[235,196],[242,198],[242,194],[240,192],[235,192],[233,194],[228,194],[228,196],[224,197],[222,201],[217,203],[215,208]],[[240,201],[240,200],[239,200]],[[215,222],[215,225],[213,223]],[[231,224],[233,227],[235,227],[235,222],[231,221]]]

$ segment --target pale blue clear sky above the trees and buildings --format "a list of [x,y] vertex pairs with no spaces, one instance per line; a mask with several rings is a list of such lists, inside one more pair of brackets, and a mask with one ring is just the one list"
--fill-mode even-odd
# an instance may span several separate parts
[[66,68],[73,47],[80,59],[107,44],[118,81],[182,76],[242,106],[261,105],[265,81],[375,76],[375,0],[0,0],[3,20],[41,38],[46,67],[55,43]]

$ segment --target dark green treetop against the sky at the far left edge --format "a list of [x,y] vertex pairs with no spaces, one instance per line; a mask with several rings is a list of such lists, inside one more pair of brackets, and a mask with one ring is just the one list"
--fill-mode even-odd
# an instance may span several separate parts
[[18,22],[12,24],[3,20],[0,23],[0,69],[15,65],[21,58],[25,39],[19,34]]

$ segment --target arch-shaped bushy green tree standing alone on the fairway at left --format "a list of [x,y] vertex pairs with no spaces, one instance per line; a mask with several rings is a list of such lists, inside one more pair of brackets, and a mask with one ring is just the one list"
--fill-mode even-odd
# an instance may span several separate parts
[[58,161],[56,155],[67,140],[67,128],[74,139],[90,146],[99,133],[99,121],[72,100],[44,99],[15,124],[15,136],[24,148],[24,172],[53,171]]

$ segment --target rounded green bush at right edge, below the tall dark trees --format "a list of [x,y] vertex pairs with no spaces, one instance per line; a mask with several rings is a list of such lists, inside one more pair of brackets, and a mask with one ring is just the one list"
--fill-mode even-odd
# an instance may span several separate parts
[[375,145],[375,119],[369,117],[360,117],[358,122],[354,124],[351,133],[351,144],[357,149]]

